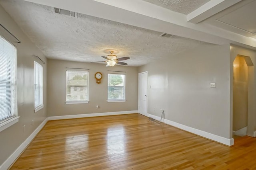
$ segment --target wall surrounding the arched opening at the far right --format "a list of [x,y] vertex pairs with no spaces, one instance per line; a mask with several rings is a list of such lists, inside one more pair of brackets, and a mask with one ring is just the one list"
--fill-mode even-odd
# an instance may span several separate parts
[[[230,122],[233,121],[233,62],[237,55],[248,56],[254,66],[248,66],[248,121],[247,135],[253,136],[256,131],[256,52],[254,50],[230,45]],[[232,131],[230,132],[232,134]]]

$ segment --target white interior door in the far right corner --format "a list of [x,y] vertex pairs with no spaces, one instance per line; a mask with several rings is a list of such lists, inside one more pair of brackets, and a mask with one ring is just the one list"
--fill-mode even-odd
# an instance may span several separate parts
[[139,73],[138,111],[142,115],[148,113],[148,72]]

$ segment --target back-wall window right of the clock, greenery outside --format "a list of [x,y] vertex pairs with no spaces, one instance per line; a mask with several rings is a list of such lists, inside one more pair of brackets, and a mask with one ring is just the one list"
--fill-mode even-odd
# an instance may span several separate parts
[[125,74],[108,74],[108,102],[125,102]]

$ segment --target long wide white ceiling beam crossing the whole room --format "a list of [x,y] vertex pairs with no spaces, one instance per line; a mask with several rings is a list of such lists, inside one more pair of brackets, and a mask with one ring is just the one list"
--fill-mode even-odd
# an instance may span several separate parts
[[189,23],[186,15],[142,0],[26,0],[106,20],[213,44],[256,47],[256,40],[208,25]]

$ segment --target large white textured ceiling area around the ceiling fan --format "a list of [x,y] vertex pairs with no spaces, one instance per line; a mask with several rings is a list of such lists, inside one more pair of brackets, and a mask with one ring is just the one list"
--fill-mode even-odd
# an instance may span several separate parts
[[159,37],[161,33],[114,21],[78,14],[56,14],[54,9],[22,0],[0,0],[30,40],[51,59],[104,61],[106,49],[129,56],[128,66],[140,66],[194,48],[201,41],[183,37]]

